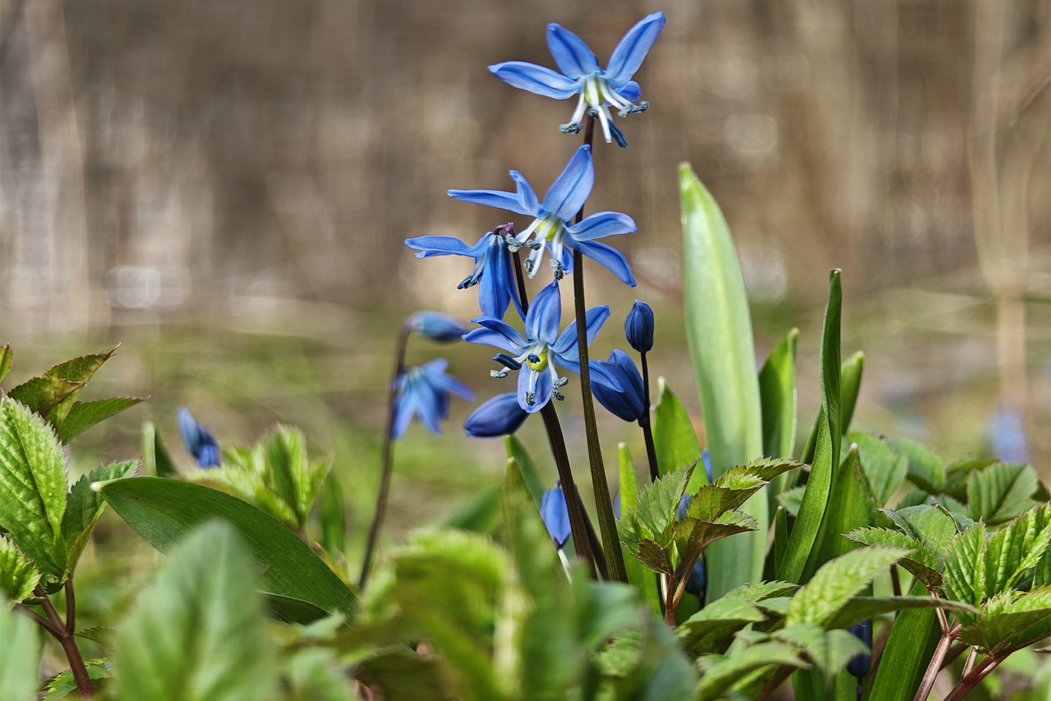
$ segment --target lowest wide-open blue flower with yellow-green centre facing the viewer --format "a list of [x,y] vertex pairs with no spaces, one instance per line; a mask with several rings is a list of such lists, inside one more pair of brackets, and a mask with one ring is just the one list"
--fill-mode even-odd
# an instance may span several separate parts
[[[490,374],[506,377],[509,370],[518,371],[518,406],[531,414],[540,411],[551,397],[565,398],[559,390],[570,380],[558,375],[556,364],[578,374],[580,372],[577,323],[571,322],[559,335],[561,317],[562,300],[558,283],[554,282],[540,290],[530,305],[526,314],[526,335],[495,316],[479,316],[472,321],[482,328],[463,336],[469,343],[487,344],[507,351],[493,358],[503,365],[503,369],[492,370]],[[609,307],[588,310],[589,345],[609,317]],[[607,377],[606,382],[617,385],[612,377]]]

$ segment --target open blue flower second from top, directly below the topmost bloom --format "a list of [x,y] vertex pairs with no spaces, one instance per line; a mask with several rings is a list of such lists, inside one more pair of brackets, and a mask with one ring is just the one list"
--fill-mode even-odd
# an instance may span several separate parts
[[[619,212],[602,211],[588,217],[579,224],[569,224],[573,217],[580,211],[595,185],[595,165],[592,163],[590,146],[585,145],[577,149],[562,174],[548,190],[542,203],[537,200],[536,192],[533,191],[529,181],[520,172],[512,170],[511,178],[518,184],[517,192],[449,190],[449,194],[465,202],[499,207],[535,218],[524,231],[515,235],[514,239],[508,240],[511,251],[518,250],[522,245],[528,245],[533,249],[526,261],[526,270],[530,277],[536,275],[540,260],[543,257],[544,244],[547,244],[547,248],[551,250],[551,266],[555,272],[555,280],[561,280],[563,273],[572,271],[573,254],[569,250],[572,249],[579,250],[588,257],[604,265],[625,285],[635,287],[635,277],[632,276],[632,269],[623,254],[612,246],[595,241],[595,239],[616,233],[635,231],[637,227],[631,217]],[[531,241],[530,238],[534,234],[536,234],[535,239]],[[438,238],[424,236],[424,239]],[[423,241],[423,239],[410,239],[409,241]],[[452,241],[457,240],[453,239]],[[462,246],[462,244],[460,245]],[[467,250],[466,246],[463,248]],[[475,269],[478,269],[477,266]],[[501,316],[501,314],[485,313],[487,316]]]

